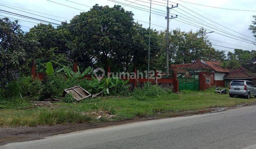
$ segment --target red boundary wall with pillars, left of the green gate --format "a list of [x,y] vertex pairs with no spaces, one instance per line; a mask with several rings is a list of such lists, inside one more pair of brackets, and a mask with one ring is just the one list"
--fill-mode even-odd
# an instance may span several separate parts
[[[77,63],[74,63],[73,71],[74,72],[77,71]],[[110,66],[107,67],[107,71],[111,72]],[[132,83],[133,87],[137,87],[137,83],[146,83],[146,82],[148,82],[147,78],[137,78],[137,68],[134,68],[134,73],[135,73],[135,77],[134,77],[135,79],[130,79],[129,80],[129,83]],[[36,72],[36,65],[35,64],[33,64],[32,68],[31,68],[31,74],[32,74],[33,78],[39,78],[41,80],[46,75],[46,73]],[[176,74],[175,70],[173,72],[173,78],[158,78],[157,77],[158,76],[158,71],[155,71],[155,76],[156,77],[154,77],[154,78],[150,78],[149,82],[154,83],[156,85],[158,85],[160,83],[173,84],[174,91],[178,92],[178,80],[177,80],[177,74]],[[91,76],[84,76],[84,78],[91,79]],[[124,77],[124,78],[122,77],[121,79],[127,80],[128,78],[127,77]]]

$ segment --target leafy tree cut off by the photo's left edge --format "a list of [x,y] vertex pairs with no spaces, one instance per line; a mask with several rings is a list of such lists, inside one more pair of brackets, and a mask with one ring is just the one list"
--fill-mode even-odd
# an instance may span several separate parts
[[35,43],[25,38],[18,21],[0,19],[0,85],[15,78],[15,73],[25,63],[26,50],[36,49]]

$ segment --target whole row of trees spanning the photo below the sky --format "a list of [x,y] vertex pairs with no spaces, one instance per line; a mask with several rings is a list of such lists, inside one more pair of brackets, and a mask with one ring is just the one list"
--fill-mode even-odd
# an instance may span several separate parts
[[[137,67],[146,70],[148,39],[150,43],[150,67],[165,67],[166,32],[142,27],[135,22],[131,11],[121,6],[95,5],[88,12],[74,16],[62,26],[37,24],[25,33],[18,21],[0,19],[0,83],[12,79],[11,70],[31,75],[36,59],[55,57],[59,61],[88,63],[95,67],[110,65],[129,71]],[[256,18],[256,17],[255,17]],[[255,22],[250,29],[256,34]],[[222,61],[226,67],[242,65],[256,72],[255,51],[235,50],[226,57],[224,51],[216,51],[207,39],[206,31],[170,33],[170,63],[191,63],[196,59]]]

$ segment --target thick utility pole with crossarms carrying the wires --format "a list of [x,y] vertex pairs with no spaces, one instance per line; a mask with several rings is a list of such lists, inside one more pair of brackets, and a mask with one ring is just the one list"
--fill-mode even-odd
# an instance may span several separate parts
[[177,4],[177,6],[172,5],[171,8],[168,6],[168,4],[169,4],[169,0],[167,0],[167,7],[166,7],[167,16],[165,17],[165,20],[167,20],[167,29],[166,29],[166,78],[169,78],[169,23],[170,23],[170,19],[178,17],[178,15],[176,15],[176,17],[174,17],[174,16],[170,17],[170,10],[175,8],[175,7],[178,7],[178,4]]

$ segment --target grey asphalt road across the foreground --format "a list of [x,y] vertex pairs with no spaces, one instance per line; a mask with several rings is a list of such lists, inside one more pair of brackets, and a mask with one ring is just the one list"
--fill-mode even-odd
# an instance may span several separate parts
[[256,148],[256,106],[88,129],[0,148]]

